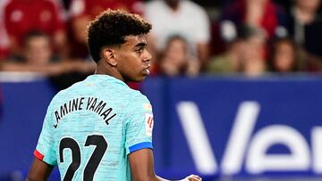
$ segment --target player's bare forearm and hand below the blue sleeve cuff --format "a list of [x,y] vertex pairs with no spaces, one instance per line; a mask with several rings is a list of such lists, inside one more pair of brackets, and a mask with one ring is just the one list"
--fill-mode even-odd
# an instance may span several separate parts
[[[153,152],[151,149],[147,148],[131,152],[128,157],[131,168],[131,177],[133,181],[166,180],[162,177],[157,177],[157,175],[155,174]],[[191,175],[184,178],[183,180],[199,181],[201,180],[201,178],[195,175]]]

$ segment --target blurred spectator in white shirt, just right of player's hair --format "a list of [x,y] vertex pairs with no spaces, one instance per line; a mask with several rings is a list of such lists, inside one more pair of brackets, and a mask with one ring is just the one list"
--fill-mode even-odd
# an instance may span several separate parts
[[154,57],[165,49],[169,37],[180,35],[202,65],[208,61],[209,20],[201,6],[190,0],[154,0],[146,4],[145,17],[153,25],[149,45]]

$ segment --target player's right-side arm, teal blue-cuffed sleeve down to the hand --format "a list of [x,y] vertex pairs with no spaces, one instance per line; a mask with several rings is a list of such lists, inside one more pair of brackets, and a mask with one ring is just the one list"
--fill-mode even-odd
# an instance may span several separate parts
[[[145,96],[137,95],[128,107],[125,148],[133,181],[166,180],[154,171],[152,129],[154,125],[152,106]],[[199,181],[191,175],[183,180]]]

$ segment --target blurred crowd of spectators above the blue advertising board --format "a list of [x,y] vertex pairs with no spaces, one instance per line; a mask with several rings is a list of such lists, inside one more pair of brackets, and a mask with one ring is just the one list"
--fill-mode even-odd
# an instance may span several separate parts
[[320,0],[1,0],[0,70],[48,75],[58,90],[92,74],[86,28],[107,8],[152,23],[152,76],[322,70]]

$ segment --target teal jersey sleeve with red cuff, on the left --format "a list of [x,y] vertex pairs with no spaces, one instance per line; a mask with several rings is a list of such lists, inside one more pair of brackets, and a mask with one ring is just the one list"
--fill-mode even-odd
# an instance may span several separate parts
[[54,146],[54,124],[54,112],[51,109],[51,105],[49,105],[34,156],[50,165],[57,164]]

